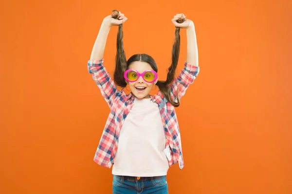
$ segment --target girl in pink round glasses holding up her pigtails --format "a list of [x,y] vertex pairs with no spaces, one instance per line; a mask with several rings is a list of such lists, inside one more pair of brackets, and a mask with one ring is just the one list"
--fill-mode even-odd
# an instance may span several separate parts
[[[110,115],[94,161],[110,168],[113,194],[168,194],[169,166],[183,168],[181,136],[174,107],[199,73],[194,23],[183,14],[172,19],[176,27],[172,63],[166,81],[158,80],[157,65],[147,54],[134,54],[128,60],[123,47],[123,23],[128,18],[114,10],[104,18],[88,71],[110,106]],[[106,40],[111,26],[119,26],[116,67],[113,79],[103,65]],[[180,52],[180,28],[186,29],[187,55],[184,68],[174,79]],[[131,92],[123,89],[129,86]],[[159,91],[149,92],[157,85]]]

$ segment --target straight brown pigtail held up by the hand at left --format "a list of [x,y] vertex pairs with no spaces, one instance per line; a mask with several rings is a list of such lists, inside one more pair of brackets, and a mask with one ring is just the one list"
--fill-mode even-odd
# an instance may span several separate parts
[[[113,10],[111,14],[112,18],[118,19],[119,18],[119,11]],[[113,80],[117,86],[125,88],[127,83],[124,78],[124,72],[127,70],[127,59],[126,53],[124,50],[124,43],[123,43],[124,33],[123,33],[123,24],[119,25],[118,28],[118,35],[117,35],[117,54],[116,54],[116,65],[113,72]]]

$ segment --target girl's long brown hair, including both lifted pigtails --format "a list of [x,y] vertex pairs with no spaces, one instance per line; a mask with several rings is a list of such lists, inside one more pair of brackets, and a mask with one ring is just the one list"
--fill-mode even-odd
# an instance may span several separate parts
[[[112,18],[118,19],[119,18],[119,11],[113,10],[112,11]],[[185,19],[178,19],[178,23],[183,23]],[[148,54],[134,54],[131,56],[128,61],[126,59],[126,53],[124,51],[124,43],[123,43],[124,33],[123,33],[123,24],[119,25],[118,29],[118,35],[117,35],[117,54],[116,54],[116,66],[114,70],[113,80],[116,83],[116,85],[125,88],[127,86],[126,80],[124,78],[124,72],[128,69],[128,66],[134,62],[134,61],[142,61],[148,63],[151,68],[158,72],[157,65],[155,60]],[[181,36],[180,36],[180,28],[176,27],[175,29],[175,40],[172,47],[172,54],[171,54],[171,65],[168,68],[168,73],[165,81],[157,81],[156,85],[160,89],[160,91],[164,94],[164,97],[167,99],[167,101],[175,107],[180,106],[180,99],[177,95],[176,99],[171,99],[170,93],[170,84],[174,81],[175,78],[175,72],[179,61],[179,55],[180,55],[180,44],[181,44]]]

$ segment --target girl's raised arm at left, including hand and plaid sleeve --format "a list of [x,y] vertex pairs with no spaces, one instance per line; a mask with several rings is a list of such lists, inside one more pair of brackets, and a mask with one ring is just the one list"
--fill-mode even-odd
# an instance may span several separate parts
[[111,79],[110,73],[103,65],[103,55],[110,27],[119,25],[127,20],[124,14],[119,14],[119,19],[114,19],[111,15],[104,18],[93,45],[90,60],[88,61],[88,71],[110,107],[112,106],[112,100],[117,96],[119,91]]

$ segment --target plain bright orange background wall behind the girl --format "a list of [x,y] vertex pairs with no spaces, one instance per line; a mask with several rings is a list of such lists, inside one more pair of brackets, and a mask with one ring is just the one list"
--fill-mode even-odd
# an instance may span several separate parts
[[[201,72],[177,108],[185,167],[169,169],[169,194],[292,193],[291,0],[1,4],[1,194],[112,192],[111,169],[93,162],[110,109],[87,61],[113,9],[128,17],[127,58],[152,55],[160,79],[173,16],[196,26]],[[116,34],[104,55],[111,75]]]

